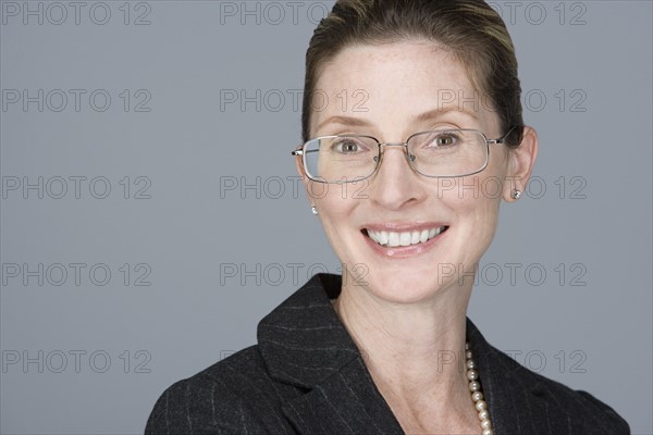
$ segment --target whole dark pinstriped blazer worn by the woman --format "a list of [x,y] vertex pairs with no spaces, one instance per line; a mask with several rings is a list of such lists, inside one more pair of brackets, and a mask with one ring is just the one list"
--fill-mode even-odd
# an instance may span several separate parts
[[[313,276],[258,325],[258,345],[163,393],[146,434],[403,434],[330,303],[338,275]],[[527,370],[467,320],[497,435],[629,434],[586,391]]]

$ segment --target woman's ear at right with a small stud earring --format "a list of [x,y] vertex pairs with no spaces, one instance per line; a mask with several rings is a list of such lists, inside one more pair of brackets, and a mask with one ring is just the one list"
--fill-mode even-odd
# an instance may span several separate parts
[[507,202],[516,201],[513,191],[523,192],[538,157],[538,133],[534,128],[523,127],[521,144],[508,150],[508,170],[504,184],[503,198]]

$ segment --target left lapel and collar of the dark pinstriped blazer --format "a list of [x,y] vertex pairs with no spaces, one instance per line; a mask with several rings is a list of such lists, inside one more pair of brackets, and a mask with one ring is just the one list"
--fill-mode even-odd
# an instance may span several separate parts
[[316,275],[259,323],[271,376],[307,390],[282,411],[300,434],[404,434],[331,307],[340,290],[340,276]]

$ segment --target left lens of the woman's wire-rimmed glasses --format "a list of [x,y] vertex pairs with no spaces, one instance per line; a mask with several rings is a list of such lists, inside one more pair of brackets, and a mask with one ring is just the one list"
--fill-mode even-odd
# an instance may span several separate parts
[[365,136],[326,136],[306,142],[304,164],[308,175],[325,183],[347,183],[370,176],[379,145]]

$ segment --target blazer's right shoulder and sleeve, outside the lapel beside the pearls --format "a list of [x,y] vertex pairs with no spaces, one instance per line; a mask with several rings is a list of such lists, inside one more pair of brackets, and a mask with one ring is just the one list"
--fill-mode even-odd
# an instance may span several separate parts
[[630,434],[630,427],[613,408],[588,391],[570,388],[535,373],[496,350],[504,365],[505,381],[530,390],[534,396],[531,414],[556,434]]

